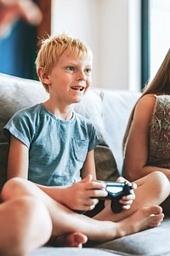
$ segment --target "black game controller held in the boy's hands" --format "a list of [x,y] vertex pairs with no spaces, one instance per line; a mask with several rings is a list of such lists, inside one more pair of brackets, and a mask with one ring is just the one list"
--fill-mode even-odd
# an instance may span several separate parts
[[[122,212],[122,204],[119,200],[123,195],[133,195],[132,184],[128,182],[104,182],[106,184],[105,190],[108,195],[103,199],[111,199],[111,211],[115,213]],[[101,198],[100,198],[101,199]]]

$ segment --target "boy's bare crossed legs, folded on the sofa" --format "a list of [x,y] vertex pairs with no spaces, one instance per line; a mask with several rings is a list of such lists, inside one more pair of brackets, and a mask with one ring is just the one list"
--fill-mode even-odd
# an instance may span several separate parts
[[[150,181],[153,183],[152,187]],[[72,237],[74,240],[71,233],[75,234],[76,232],[76,234],[85,235],[82,238],[82,243],[86,241],[86,236],[93,241],[109,241],[116,237],[127,236],[140,230],[155,227],[161,223],[163,218],[161,207],[154,205],[160,204],[169,195],[167,177],[163,176],[161,172],[155,172],[152,176],[140,179],[137,183],[139,189],[136,189],[136,200],[131,209],[113,214],[110,206],[107,206],[102,213],[95,217],[96,219],[72,212],[38,189],[34,183],[19,177],[8,180],[3,186],[2,199],[4,203],[9,203],[11,200],[20,198],[21,195],[33,197],[46,209],[46,215],[48,214],[48,218],[51,220],[52,236],[70,234],[68,237],[71,241]],[[44,224],[44,219],[46,218],[43,218],[42,224]],[[41,219],[38,221],[41,222]],[[50,221],[48,221],[48,225],[49,223]],[[33,230],[35,230],[35,226],[33,226]],[[44,238],[45,240],[48,241],[47,237]]]

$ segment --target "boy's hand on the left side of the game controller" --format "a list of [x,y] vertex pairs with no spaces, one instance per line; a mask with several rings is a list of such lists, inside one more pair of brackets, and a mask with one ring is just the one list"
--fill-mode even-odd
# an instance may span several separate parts
[[63,191],[63,203],[73,210],[90,211],[99,202],[97,198],[107,196],[105,183],[93,181],[92,175],[83,178]]

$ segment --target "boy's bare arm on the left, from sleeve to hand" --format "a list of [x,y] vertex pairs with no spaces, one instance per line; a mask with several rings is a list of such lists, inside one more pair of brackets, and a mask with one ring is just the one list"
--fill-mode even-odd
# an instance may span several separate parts
[[[11,136],[8,154],[8,179],[12,177],[28,178],[29,149],[16,137]],[[88,175],[88,174],[87,174]],[[92,210],[98,203],[98,196],[106,196],[107,192],[102,190],[105,185],[92,181],[93,177],[88,175],[81,182],[70,187],[48,187],[37,184],[46,194],[55,201],[82,211]],[[94,197],[92,199],[91,197]]]

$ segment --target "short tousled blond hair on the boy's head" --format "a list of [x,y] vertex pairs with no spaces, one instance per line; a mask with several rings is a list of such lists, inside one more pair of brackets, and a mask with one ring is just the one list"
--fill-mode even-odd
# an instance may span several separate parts
[[[48,38],[42,39],[41,47],[37,54],[37,70],[38,68],[43,67],[44,73],[46,73],[46,75],[50,74],[65,49],[78,55],[80,58],[86,55],[93,55],[88,45],[78,38],[72,38],[65,32],[54,37],[48,36]],[[48,91],[48,84],[42,84],[45,90]]]

